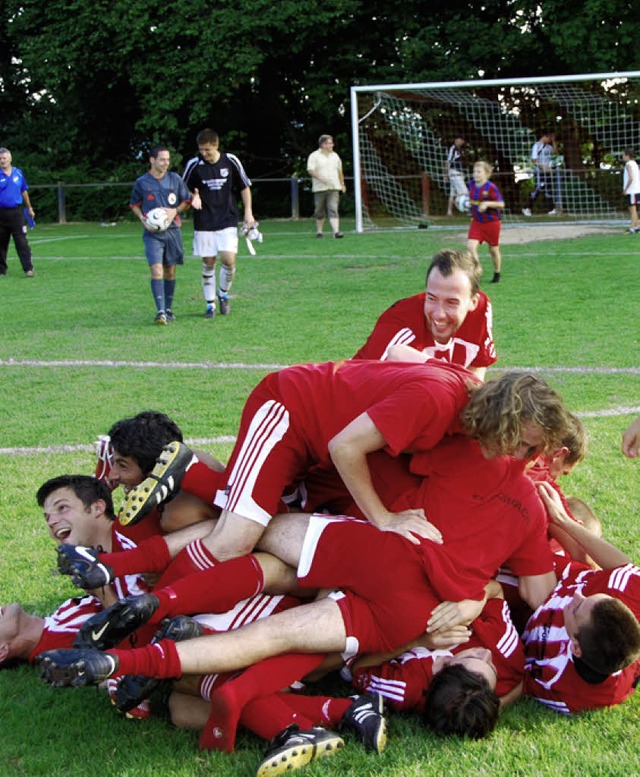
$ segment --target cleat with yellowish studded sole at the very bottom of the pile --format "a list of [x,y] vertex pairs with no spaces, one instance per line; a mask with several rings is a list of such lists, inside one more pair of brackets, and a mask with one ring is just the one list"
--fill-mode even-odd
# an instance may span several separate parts
[[334,755],[344,740],[333,731],[314,727],[301,731],[295,723],[287,726],[271,742],[256,771],[256,777],[275,777],[300,769],[311,761]]

